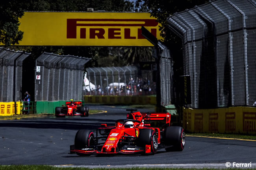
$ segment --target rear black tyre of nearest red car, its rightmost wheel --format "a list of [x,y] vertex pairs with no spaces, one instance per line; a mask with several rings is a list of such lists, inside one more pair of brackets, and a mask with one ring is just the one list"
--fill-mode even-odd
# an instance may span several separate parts
[[166,151],[182,151],[185,146],[185,132],[180,126],[169,126],[165,129],[165,148]]

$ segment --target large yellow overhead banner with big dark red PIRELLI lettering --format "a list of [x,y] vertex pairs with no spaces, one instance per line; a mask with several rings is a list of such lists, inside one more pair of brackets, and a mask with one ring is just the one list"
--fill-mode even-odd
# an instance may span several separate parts
[[160,39],[150,13],[25,12],[20,46],[153,46],[141,26]]

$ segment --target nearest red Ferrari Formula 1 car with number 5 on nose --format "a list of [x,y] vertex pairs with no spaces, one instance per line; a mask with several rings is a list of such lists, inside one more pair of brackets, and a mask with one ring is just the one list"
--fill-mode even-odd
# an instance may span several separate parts
[[128,111],[126,120],[117,120],[115,126],[101,124],[96,135],[91,130],[79,130],[74,145],[70,145],[70,154],[155,154],[160,148],[183,150],[184,129],[170,126],[171,114]]

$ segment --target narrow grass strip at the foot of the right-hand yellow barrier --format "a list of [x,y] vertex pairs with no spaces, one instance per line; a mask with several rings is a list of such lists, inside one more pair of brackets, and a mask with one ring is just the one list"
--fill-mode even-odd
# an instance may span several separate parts
[[222,137],[233,139],[249,139],[256,140],[256,135],[243,135],[243,134],[224,134],[224,133],[186,133],[191,136],[207,136],[207,137]]

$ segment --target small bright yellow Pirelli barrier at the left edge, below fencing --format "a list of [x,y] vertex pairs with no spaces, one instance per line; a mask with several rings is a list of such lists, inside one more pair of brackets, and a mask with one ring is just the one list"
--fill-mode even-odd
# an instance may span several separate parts
[[[20,115],[22,102],[16,102],[17,115]],[[15,102],[0,102],[0,116],[12,116],[15,114]]]

